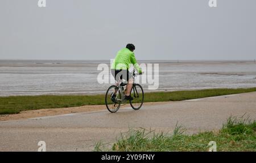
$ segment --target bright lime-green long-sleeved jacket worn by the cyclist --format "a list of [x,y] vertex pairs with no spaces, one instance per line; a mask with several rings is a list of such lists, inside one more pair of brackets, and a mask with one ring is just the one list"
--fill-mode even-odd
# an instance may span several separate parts
[[129,69],[130,64],[133,64],[137,72],[141,73],[141,68],[139,68],[139,64],[134,56],[134,52],[131,52],[127,48],[123,48],[118,51],[117,56],[115,56],[111,69]]

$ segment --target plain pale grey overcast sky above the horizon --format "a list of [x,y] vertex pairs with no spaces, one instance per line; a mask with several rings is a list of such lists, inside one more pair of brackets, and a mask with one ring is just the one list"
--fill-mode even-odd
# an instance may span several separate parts
[[0,1],[0,59],[253,60],[256,1]]

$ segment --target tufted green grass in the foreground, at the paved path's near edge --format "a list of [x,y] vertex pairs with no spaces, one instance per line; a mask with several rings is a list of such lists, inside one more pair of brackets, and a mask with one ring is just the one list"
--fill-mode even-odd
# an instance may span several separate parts
[[[185,135],[184,128],[177,126],[172,135],[155,133],[146,129],[130,129],[121,135],[111,147],[99,142],[94,151],[209,151],[210,141],[216,141],[217,151],[256,152],[256,122],[230,116],[217,132],[201,132]],[[106,148],[108,145],[108,148]]]

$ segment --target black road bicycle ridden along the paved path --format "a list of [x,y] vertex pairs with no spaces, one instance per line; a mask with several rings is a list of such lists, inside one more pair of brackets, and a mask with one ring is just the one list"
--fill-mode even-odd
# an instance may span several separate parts
[[[135,73],[135,69],[133,69],[133,87],[130,93],[133,97],[133,101],[130,101],[130,105],[134,110],[139,110],[144,101],[144,91],[142,86],[135,83],[135,77],[138,75],[138,73]],[[123,83],[122,80],[119,80],[117,85],[110,86],[106,91],[105,104],[110,112],[117,112],[121,104],[126,105],[127,101],[125,100],[125,89],[123,87],[126,85],[127,83]],[[114,94],[115,97],[113,97]]]

